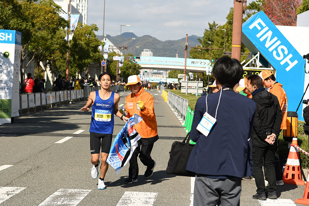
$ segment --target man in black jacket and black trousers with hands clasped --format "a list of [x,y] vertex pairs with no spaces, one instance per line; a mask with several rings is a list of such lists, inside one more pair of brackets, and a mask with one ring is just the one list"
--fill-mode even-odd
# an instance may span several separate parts
[[262,170],[263,159],[265,159],[270,184],[267,188],[268,198],[277,199],[274,165],[276,148],[274,143],[277,141],[275,134],[279,134],[281,127],[281,108],[277,97],[265,90],[263,81],[258,75],[253,74],[248,77],[247,88],[249,93],[252,94],[252,100],[256,102],[256,114],[252,131],[252,160],[257,193],[252,198],[266,200],[266,188]]

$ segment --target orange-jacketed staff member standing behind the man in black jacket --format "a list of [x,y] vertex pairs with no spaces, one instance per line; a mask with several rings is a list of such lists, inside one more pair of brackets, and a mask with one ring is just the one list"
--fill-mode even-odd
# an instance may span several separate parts
[[[260,72],[259,76],[263,80],[263,84],[269,88],[269,92],[275,95],[279,101],[279,105],[282,112],[282,122],[280,127],[280,132],[282,129],[286,129],[286,118],[288,114],[288,100],[286,98],[286,91],[282,88],[282,84],[276,82],[275,76],[267,69]],[[279,133],[280,133],[279,132]],[[279,137],[279,134],[277,135]],[[277,141],[278,142],[278,141]],[[278,155],[278,146],[275,153],[275,170],[276,170],[276,179],[277,185],[283,185],[282,174],[280,169],[279,155]],[[265,173],[266,176],[266,173]]]

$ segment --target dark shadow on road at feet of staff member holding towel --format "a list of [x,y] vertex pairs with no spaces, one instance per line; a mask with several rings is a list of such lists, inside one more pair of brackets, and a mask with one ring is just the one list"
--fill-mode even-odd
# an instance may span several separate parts
[[146,179],[144,175],[138,175],[138,182],[137,183],[131,183],[131,184],[125,184],[125,179],[128,178],[128,176],[122,176],[120,179],[116,180],[115,182],[105,182],[106,187],[136,187],[144,184],[151,184],[155,185],[158,183],[162,183],[165,180],[169,180],[169,178],[175,177],[175,175],[166,174],[165,170],[155,171],[154,174]]

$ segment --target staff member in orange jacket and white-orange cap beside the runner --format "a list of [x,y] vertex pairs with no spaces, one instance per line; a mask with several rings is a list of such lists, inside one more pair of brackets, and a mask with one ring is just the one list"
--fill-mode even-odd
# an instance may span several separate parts
[[150,153],[159,137],[153,96],[142,88],[141,80],[137,75],[129,76],[125,86],[129,86],[132,92],[125,98],[127,117],[138,114],[143,118],[139,124],[133,126],[142,138],[138,141],[138,147],[130,159],[129,178],[125,180],[125,183],[130,184],[138,181],[138,154],[141,162],[147,166],[144,176],[149,178],[153,174],[156,162],[150,157]]

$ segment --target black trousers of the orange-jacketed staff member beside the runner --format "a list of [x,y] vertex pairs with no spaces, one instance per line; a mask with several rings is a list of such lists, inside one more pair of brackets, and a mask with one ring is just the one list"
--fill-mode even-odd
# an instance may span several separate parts
[[[153,139],[154,138],[154,139]],[[153,166],[154,162],[150,157],[150,153],[154,146],[154,142],[158,140],[158,135],[151,138],[138,140],[138,147],[134,150],[132,157],[129,161],[129,178],[137,179],[138,177],[138,163],[137,157],[139,156],[141,162],[145,166]]]

